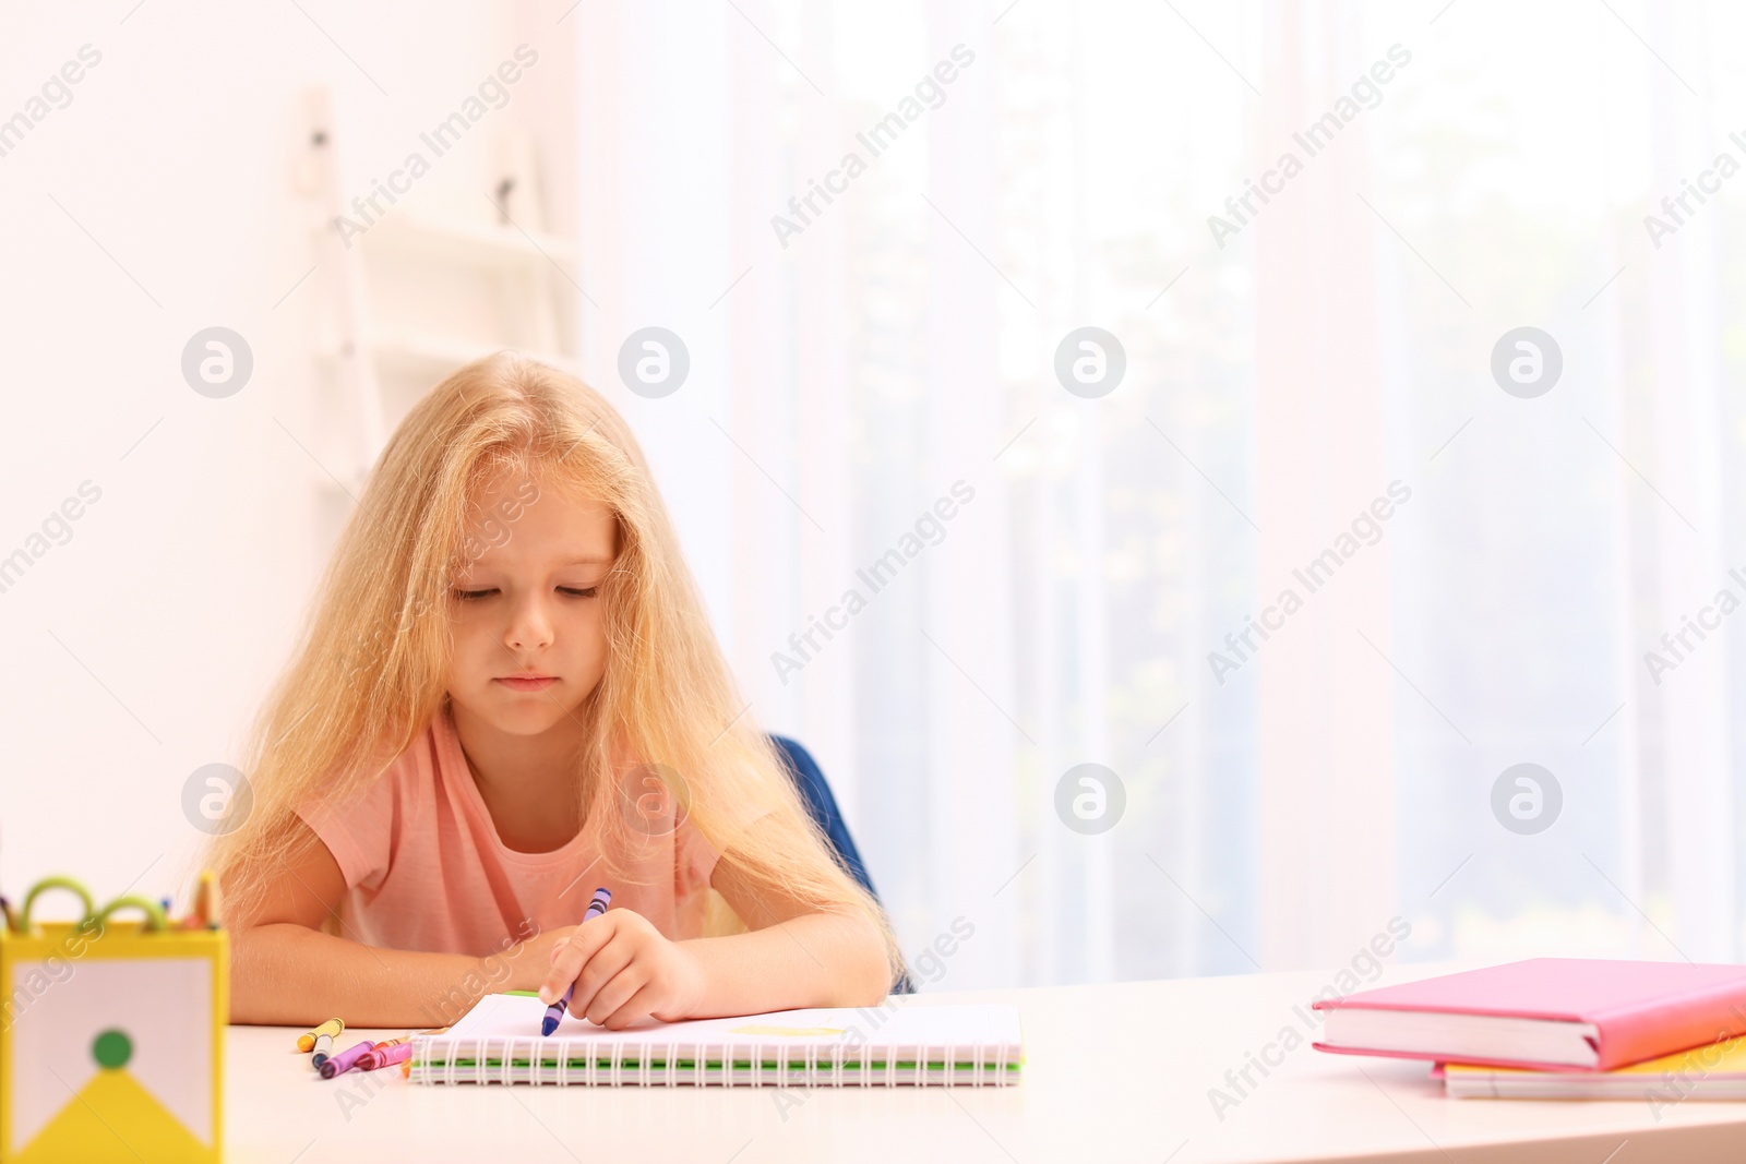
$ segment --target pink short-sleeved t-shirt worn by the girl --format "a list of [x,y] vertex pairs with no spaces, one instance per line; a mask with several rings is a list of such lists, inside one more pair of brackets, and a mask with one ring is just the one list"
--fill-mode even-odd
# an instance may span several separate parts
[[[340,934],[368,946],[484,956],[506,939],[581,921],[597,887],[674,941],[700,937],[719,853],[690,822],[637,838],[620,878],[599,857],[599,820],[550,853],[498,839],[447,707],[403,756],[349,803],[299,815],[346,876]],[[641,881],[641,885],[632,883]]]

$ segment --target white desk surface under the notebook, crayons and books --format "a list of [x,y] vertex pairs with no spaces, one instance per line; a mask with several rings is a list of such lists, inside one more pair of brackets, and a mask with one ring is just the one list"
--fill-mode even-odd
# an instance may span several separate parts
[[[1430,967],[1392,969],[1409,981]],[[1327,974],[924,993],[904,1005],[1011,1002],[1016,1087],[416,1085],[398,1070],[321,1080],[297,1031],[232,1026],[225,1159],[828,1164],[952,1161],[1746,1161],[1746,1103],[1444,1099],[1421,1063],[1285,1054],[1224,1119],[1210,1087],[1282,1028]],[[372,1031],[346,1031],[340,1045]],[[403,1031],[375,1031],[377,1038]],[[1278,1058],[1278,1052],[1273,1052]],[[340,1096],[347,1098],[342,1101]],[[794,1099],[800,1098],[800,1103]]]

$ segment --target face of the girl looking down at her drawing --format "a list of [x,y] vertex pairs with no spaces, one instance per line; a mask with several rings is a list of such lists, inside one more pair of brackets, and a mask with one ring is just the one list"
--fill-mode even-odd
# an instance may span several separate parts
[[501,476],[478,497],[454,578],[449,696],[512,735],[564,721],[606,670],[599,588],[618,553],[599,501]]

